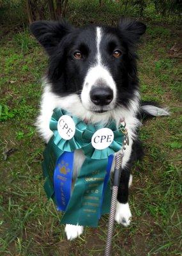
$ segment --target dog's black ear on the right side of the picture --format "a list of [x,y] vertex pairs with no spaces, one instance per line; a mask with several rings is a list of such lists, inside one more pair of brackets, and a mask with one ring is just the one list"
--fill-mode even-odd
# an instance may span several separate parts
[[127,40],[129,44],[135,44],[139,42],[140,36],[145,33],[146,25],[137,20],[121,18],[118,29],[124,40]]

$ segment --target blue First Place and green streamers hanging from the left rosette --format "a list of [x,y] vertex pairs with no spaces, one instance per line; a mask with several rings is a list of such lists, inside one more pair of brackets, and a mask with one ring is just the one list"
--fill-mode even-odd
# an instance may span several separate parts
[[70,200],[73,173],[73,152],[64,152],[50,139],[43,152],[44,189],[47,198],[52,198],[57,210],[65,211]]

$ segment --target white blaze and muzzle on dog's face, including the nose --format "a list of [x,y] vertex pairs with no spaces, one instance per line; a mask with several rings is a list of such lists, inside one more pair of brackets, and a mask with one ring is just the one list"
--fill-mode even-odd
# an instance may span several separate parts
[[84,107],[99,113],[114,109],[116,103],[116,83],[103,63],[101,41],[102,28],[96,27],[95,62],[87,71],[81,93]]

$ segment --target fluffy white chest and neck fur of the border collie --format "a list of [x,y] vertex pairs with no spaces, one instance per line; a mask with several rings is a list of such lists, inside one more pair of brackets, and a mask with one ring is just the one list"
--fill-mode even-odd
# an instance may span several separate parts
[[[80,99],[77,95],[69,95],[66,97],[59,97],[54,95],[54,93],[50,92],[50,84],[44,83],[43,84],[43,95],[42,101],[40,106],[40,115],[38,116],[36,126],[38,127],[38,131],[40,132],[43,140],[47,143],[51,136],[52,131],[49,129],[49,122],[52,116],[52,111],[54,108],[63,108],[73,115],[78,116],[82,120],[87,118],[87,120],[91,120],[91,122],[107,122],[107,120],[112,117],[116,120],[116,124],[119,124],[119,120],[121,118],[125,118],[126,121],[126,129],[128,129],[128,136],[130,145],[126,147],[125,154],[123,157],[123,167],[126,166],[128,160],[130,159],[130,154],[132,152],[132,141],[133,137],[135,136],[135,129],[139,125],[139,121],[135,118],[135,113],[137,112],[137,104],[138,99],[137,97],[134,100],[131,100],[130,109],[116,109],[115,111],[111,111],[111,113],[103,114],[101,117],[98,118],[97,114],[95,116],[93,113],[89,113],[86,109],[83,109],[82,105],[80,104]],[[85,156],[82,153],[82,150],[75,150],[74,154],[74,170],[73,170],[73,177],[77,177],[77,173],[84,162]],[[112,166],[112,170],[113,170]]]

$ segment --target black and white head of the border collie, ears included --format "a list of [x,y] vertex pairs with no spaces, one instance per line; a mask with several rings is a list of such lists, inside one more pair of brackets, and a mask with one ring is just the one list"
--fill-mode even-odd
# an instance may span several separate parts
[[31,24],[31,32],[50,57],[47,79],[52,92],[77,95],[82,107],[95,113],[127,106],[133,98],[138,86],[135,46],[145,30],[144,24],[129,19],[121,19],[114,28]]

